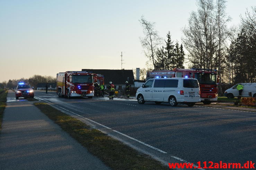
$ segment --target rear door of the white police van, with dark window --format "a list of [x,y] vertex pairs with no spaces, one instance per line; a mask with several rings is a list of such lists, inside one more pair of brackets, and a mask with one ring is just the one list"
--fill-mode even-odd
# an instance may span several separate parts
[[196,79],[183,79],[184,101],[200,100],[199,84]]

